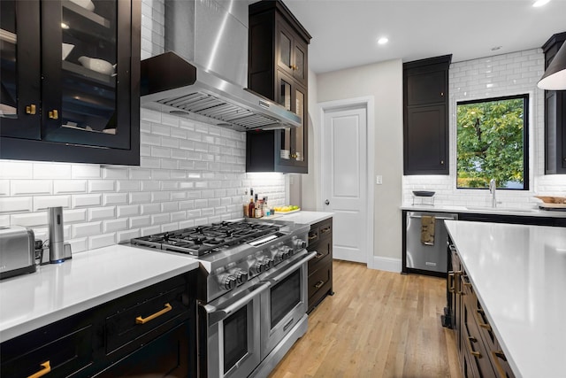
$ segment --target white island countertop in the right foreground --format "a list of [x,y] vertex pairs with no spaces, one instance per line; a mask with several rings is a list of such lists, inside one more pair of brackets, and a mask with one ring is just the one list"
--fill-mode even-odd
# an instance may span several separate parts
[[446,221],[517,377],[566,377],[566,228]]

